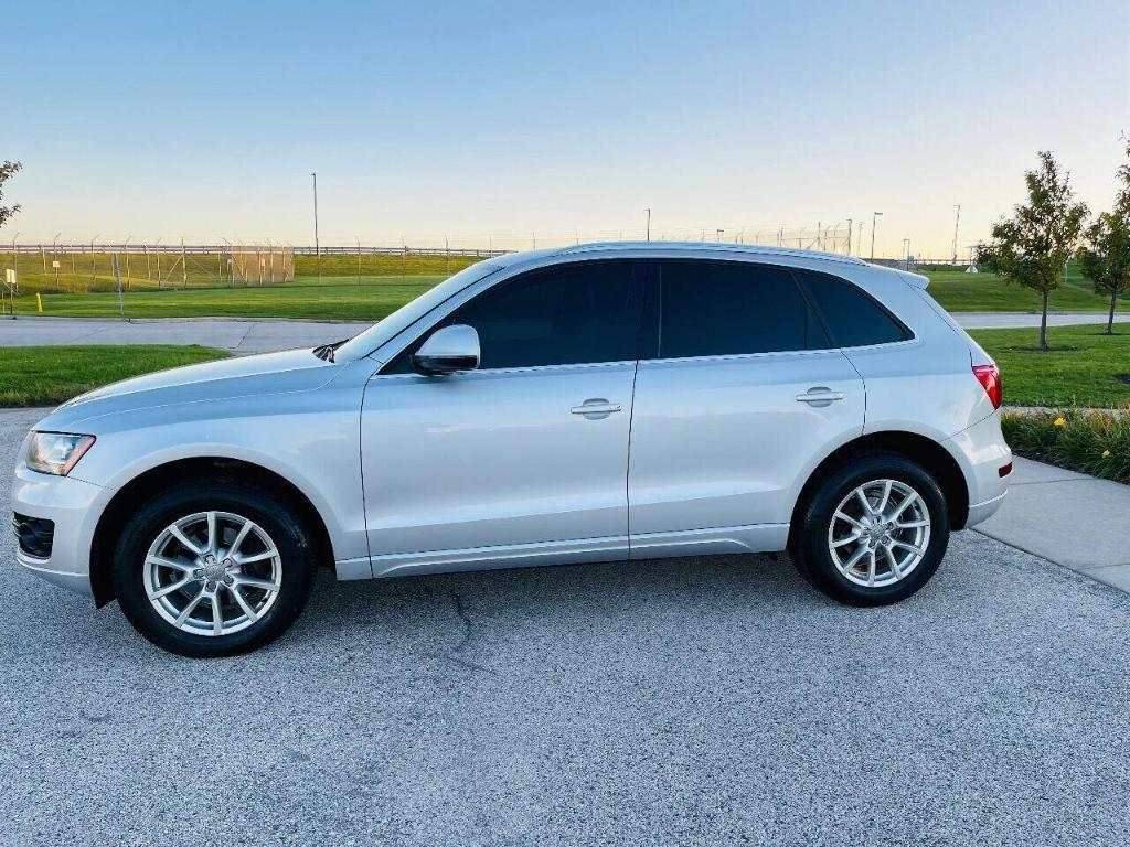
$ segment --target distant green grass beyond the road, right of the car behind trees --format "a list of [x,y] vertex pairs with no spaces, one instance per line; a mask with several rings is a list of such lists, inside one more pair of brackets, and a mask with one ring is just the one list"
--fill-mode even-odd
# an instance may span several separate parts
[[[992,273],[965,273],[960,270],[927,271],[930,294],[949,312],[1040,312],[1040,295],[1010,285]],[[1052,291],[1049,312],[1103,312],[1110,299],[1090,290],[1090,282],[1071,262],[1067,281]],[[1130,308],[1130,294],[1121,298],[1121,307]]]

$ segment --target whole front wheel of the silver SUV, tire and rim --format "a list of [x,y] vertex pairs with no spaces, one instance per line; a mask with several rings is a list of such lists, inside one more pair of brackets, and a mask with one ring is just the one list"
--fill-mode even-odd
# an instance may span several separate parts
[[315,560],[293,504],[238,480],[201,480],[150,499],[113,562],[122,611],[185,656],[255,649],[297,619]]

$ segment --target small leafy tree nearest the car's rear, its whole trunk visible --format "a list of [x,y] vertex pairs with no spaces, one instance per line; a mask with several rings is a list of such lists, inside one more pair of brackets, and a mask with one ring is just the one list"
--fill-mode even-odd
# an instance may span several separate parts
[[1024,174],[1028,202],[992,228],[992,242],[981,248],[980,262],[1009,282],[1041,296],[1040,349],[1048,349],[1048,295],[1059,288],[1068,259],[1075,253],[1087,207],[1075,202],[1070,180],[1054,157],[1043,150],[1040,166]]

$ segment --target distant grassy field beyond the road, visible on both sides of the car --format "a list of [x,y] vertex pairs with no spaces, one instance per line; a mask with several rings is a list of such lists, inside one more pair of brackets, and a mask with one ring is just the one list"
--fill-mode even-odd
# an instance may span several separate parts
[[[69,254],[68,254],[69,255]],[[92,262],[90,254],[77,254],[81,269]],[[10,262],[11,254],[0,252],[0,267]],[[473,257],[435,255],[363,255],[362,273],[357,276],[357,257],[323,256],[321,277],[314,256],[296,256],[297,279],[286,285],[238,282],[217,283],[217,272],[209,261],[216,256],[189,256],[190,273],[184,286],[179,273],[167,274],[169,256],[162,257],[158,287],[156,262],[150,261],[150,279],[145,277],[144,256],[131,257],[131,277],[123,280],[127,317],[307,317],[322,320],[375,321],[402,304],[418,297],[436,282],[473,263]],[[38,255],[20,255],[20,292],[16,314],[36,314],[35,292],[41,292],[45,315],[59,317],[116,316],[118,295],[108,273],[108,254],[94,254],[98,274],[92,280],[89,270],[71,273],[69,263],[60,260],[56,286],[53,271],[42,272]],[[198,265],[200,265],[198,268]],[[140,268],[140,270],[139,270]],[[49,252],[50,269],[50,252]],[[210,276],[209,276],[210,273]],[[140,274],[140,276],[139,276]],[[930,292],[951,312],[1038,312],[1040,298],[1032,291],[1008,285],[990,273],[968,274],[959,270],[932,270]],[[1052,312],[1104,313],[1107,303],[1095,296],[1078,268],[1068,270],[1067,282],[1051,296]],[[1122,298],[1121,309],[1130,309],[1130,295]]]

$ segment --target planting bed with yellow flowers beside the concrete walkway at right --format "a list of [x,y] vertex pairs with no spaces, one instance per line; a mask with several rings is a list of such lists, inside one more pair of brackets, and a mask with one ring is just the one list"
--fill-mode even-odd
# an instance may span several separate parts
[[1120,414],[1093,409],[1006,413],[1001,428],[1018,455],[1130,483],[1130,407]]

